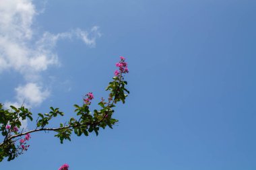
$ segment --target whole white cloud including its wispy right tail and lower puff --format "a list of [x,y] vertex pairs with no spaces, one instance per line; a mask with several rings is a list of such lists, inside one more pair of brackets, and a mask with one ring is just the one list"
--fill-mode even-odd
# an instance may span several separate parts
[[32,0],[0,0],[0,74],[11,69],[26,82],[14,89],[15,101],[6,101],[5,105],[20,106],[25,100],[25,105],[32,107],[51,95],[42,83],[41,73],[61,64],[55,51],[59,40],[75,38],[94,47],[101,36],[94,26],[90,31],[77,28],[58,34],[44,32],[36,39],[33,22],[40,13]]

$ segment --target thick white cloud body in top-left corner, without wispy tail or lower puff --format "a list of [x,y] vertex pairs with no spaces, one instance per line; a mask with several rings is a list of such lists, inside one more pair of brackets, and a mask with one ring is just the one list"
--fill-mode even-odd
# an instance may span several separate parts
[[0,71],[12,69],[30,77],[58,64],[53,51],[33,45],[35,15],[32,0],[0,0]]

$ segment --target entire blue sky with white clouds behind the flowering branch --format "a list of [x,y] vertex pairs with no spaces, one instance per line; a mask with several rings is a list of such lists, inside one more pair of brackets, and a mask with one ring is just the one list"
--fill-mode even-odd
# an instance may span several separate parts
[[32,134],[0,169],[256,169],[256,1],[2,2],[1,102],[61,108],[57,126],[87,92],[106,97],[120,55],[131,94],[113,130]]

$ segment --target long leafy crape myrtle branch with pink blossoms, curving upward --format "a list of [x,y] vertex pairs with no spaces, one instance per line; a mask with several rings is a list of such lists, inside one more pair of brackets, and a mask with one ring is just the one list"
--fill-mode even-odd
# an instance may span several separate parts
[[[24,108],[23,105],[21,108],[15,108],[11,105],[11,111],[5,110],[0,103],[0,132],[4,137],[3,142],[0,143],[0,161],[5,157],[8,157],[7,161],[11,161],[15,157],[18,157],[18,155],[23,154],[24,151],[27,151],[29,147],[27,142],[30,140],[30,134],[34,132],[55,131],[57,132],[55,136],[63,143],[63,140],[71,140],[70,136],[73,131],[77,136],[81,136],[82,134],[88,136],[93,131],[98,135],[98,130],[100,128],[104,129],[106,126],[113,128],[113,125],[118,122],[118,120],[112,118],[114,113],[113,108],[119,101],[125,103],[126,93],[129,93],[125,88],[127,81],[124,80],[124,75],[129,73],[127,62],[125,62],[123,56],[120,58],[121,60],[116,64],[119,70],[115,71],[113,81],[106,87],[106,91],[110,91],[108,102],[105,102],[102,98],[102,101],[98,103],[101,109],[94,110],[92,114],[89,109],[94,95],[91,92],[86,94],[83,105],[74,105],[76,115],[79,119],[70,118],[67,125],[65,123],[64,125],[60,124],[57,128],[45,128],[52,118],[64,115],[63,112],[59,111],[59,108],[51,107],[51,112],[38,114],[36,128],[34,130],[24,132],[24,129],[22,129],[22,132],[19,132],[19,128],[22,126],[20,120],[26,120],[28,118],[32,121],[32,113],[27,108]],[[22,136],[25,136],[25,138],[22,138]]]

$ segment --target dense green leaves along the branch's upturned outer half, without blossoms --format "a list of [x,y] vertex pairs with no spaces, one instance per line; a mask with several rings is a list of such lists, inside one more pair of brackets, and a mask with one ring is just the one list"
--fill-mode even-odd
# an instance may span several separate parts
[[92,132],[95,132],[98,136],[100,128],[104,129],[106,126],[113,128],[113,125],[118,122],[118,120],[112,118],[114,113],[113,108],[115,107],[114,103],[118,101],[125,103],[125,98],[127,97],[125,92],[129,93],[125,85],[127,85],[127,81],[123,81],[122,75],[113,77],[113,81],[106,87],[106,90],[110,91],[108,102],[102,99],[102,101],[98,103],[101,109],[94,110],[93,114],[90,112],[88,104],[84,103],[81,106],[75,104],[75,113],[78,118],[71,118],[69,122],[67,122],[67,126],[61,124],[61,130],[55,130],[55,132],[58,132],[55,136],[63,143],[65,139],[70,140],[72,131],[74,131],[77,136],[82,136],[82,134],[88,136]]

